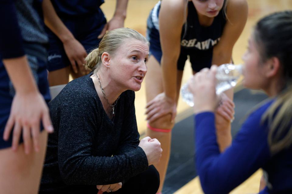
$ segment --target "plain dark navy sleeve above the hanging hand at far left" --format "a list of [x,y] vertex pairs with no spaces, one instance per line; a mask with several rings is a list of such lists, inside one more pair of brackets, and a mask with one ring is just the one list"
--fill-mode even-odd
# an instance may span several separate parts
[[0,1],[0,55],[3,59],[23,56],[23,42],[13,0]]

